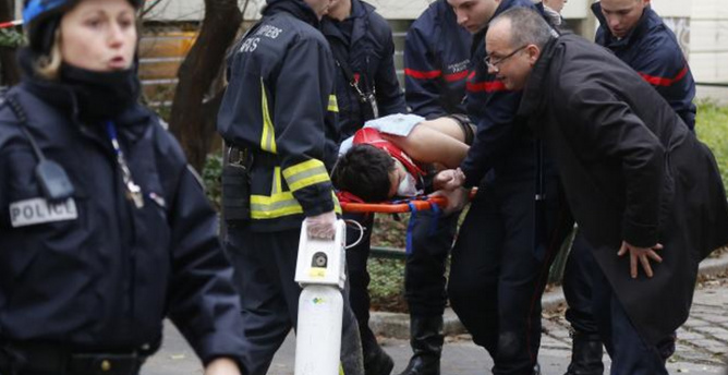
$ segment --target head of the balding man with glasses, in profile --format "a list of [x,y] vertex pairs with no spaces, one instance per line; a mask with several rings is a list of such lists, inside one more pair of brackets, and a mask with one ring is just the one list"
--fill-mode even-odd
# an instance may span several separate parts
[[511,90],[525,86],[551,28],[537,12],[510,9],[490,22],[485,36],[486,65]]

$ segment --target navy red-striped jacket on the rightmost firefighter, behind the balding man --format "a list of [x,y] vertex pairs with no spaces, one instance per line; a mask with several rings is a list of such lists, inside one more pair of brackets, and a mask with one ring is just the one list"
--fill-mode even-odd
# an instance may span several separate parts
[[695,80],[675,34],[659,15],[652,8],[645,8],[634,29],[617,39],[607,27],[602,4],[592,4],[592,12],[599,20],[596,43],[632,66],[657,89],[690,129],[695,128]]

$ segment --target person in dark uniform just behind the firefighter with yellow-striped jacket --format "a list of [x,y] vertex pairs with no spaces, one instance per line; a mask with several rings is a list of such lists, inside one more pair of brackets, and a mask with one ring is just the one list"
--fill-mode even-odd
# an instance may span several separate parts
[[[404,113],[404,96],[395,71],[395,43],[391,27],[360,0],[333,0],[321,22],[321,32],[336,61],[336,96],[339,105],[339,141],[354,134],[367,120],[379,116]],[[374,215],[345,215],[365,227],[362,241],[347,251],[351,286],[350,301],[359,322],[366,374],[388,375],[393,362],[379,347],[369,328],[369,274],[366,262]],[[349,231],[349,243],[360,233]]]

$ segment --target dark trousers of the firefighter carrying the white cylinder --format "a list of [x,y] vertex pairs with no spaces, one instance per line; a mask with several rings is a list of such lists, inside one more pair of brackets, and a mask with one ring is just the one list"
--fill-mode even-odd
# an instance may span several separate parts
[[[274,354],[295,328],[301,287],[294,281],[301,229],[254,232],[228,227],[226,249],[240,293],[245,351],[243,373],[265,375]],[[341,365],[345,375],[364,374],[356,319],[343,293]]]

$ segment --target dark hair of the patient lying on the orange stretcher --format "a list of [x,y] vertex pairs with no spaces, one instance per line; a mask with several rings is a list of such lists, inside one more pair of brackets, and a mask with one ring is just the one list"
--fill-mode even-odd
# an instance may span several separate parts
[[338,190],[350,192],[364,202],[389,198],[395,160],[387,152],[372,145],[355,145],[339,156],[331,181]]

